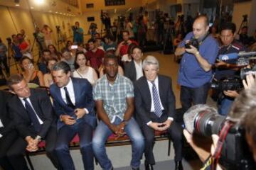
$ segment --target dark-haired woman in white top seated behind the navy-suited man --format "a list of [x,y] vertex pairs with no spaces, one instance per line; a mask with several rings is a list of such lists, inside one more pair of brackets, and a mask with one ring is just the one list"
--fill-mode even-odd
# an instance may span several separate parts
[[97,73],[95,69],[86,65],[86,57],[83,52],[78,52],[75,56],[75,71],[73,77],[87,79],[90,84],[94,85],[97,81]]

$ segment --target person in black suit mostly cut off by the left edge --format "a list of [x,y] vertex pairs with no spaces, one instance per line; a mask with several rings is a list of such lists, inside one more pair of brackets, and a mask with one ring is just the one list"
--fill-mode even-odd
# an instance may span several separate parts
[[10,93],[0,91],[0,166],[5,170],[13,170],[6,153],[18,138],[18,133],[14,129],[14,121],[11,120],[6,107],[6,103],[10,97]]

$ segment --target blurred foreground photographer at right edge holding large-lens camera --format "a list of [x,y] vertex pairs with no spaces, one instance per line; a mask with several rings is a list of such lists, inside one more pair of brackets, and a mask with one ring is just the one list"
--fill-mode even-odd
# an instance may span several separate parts
[[[250,75],[247,83],[243,83],[247,90],[242,91],[235,99],[228,117],[218,115],[215,108],[206,105],[193,106],[184,114],[184,135],[201,160],[206,161],[203,169],[256,168],[250,151],[250,147],[256,148],[256,142],[252,138],[256,133],[256,90],[250,88],[255,86],[255,79]],[[211,152],[210,149],[202,149],[202,143],[198,145],[195,142],[198,135],[201,138],[213,136],[215,142]],[[256,161],[256,149],[254,154]],[[221,168],[216,168],[217,166]]]

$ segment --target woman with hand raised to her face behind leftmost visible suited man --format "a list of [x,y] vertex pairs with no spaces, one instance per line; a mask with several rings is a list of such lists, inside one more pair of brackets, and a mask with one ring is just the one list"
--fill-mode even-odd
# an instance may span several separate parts
[[21,60],[21,69],[24,79],[28,83],[38,84],[39,86],[44,86],[43,82],[43,73],[39,70],[36,70],[33,66],[33,60],[28,57],[22,57]]

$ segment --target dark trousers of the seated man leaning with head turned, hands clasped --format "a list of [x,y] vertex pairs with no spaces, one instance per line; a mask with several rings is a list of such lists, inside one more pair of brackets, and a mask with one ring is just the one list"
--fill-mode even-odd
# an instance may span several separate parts
[[[35,137],[35,135],[33,137]],[[61,169],[58,164],[58,159],[56,157],[55,150],[54,150],[56,137],[57,137],[57,128],[51,127],[45,137],[46,155],[48,156],[50,161],[53,163],[53,165],[57,169]],[[26,160],[23,157],[23,155],[26,153],[27,145],[28,145],[28,142],[26,142],[26,140],[23,140],[21,137],[19,137],[14,142],[14,144],[11,145],[11,148],[7,152],[7,157],[15,170],[28,170]]]

